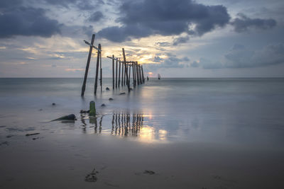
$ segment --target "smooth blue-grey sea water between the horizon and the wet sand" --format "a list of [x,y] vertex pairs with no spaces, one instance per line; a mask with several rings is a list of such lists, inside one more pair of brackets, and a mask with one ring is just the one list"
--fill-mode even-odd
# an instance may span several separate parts
[[[1,141],[9,134],[71,130],[142,143],[283,149],[284,79],[151,78],[131,93],[126,86],[112,90],[111,79],[103,79],[97,96],[94,79],[89,79],[84,98],[81,87],[82,79],[75,78],[0,79]],[[80,114],[88,110],[89,101],[96,102],[95,120]],[[71,113],[77,117],[75,122],[49,122]]]

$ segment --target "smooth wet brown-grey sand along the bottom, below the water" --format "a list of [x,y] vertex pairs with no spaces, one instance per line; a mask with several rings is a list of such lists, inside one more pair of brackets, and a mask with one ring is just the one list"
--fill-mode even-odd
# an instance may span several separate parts
[[[1,144],[0,188],[283,188],[284,154],[100,134],[18,135]],[[153,171],[154,173],[148,173]]]

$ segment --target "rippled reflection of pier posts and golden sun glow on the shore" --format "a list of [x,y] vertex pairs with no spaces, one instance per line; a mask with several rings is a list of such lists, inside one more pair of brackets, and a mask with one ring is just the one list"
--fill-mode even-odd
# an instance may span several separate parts
[[[104,130],[102,130],[104,116],[94,118],[81,114],[83,132],[87,133],[86,118],[89,118],[89,127],[94,127],[94,133],[96,134],[111,134],[111,136],[116,137],[135,137],[140,142],[167,141],[168,131],[156,130],[155,127],[146,125],[144,118],[147,118],[148,115],[143,115],[143,113],[114,112],[111,118],[109,118],[109,115],[106,115],[106,117],[104,119]],[[111,120],[111,125],[109,123],[106,125],[105,122],[109,120]]]

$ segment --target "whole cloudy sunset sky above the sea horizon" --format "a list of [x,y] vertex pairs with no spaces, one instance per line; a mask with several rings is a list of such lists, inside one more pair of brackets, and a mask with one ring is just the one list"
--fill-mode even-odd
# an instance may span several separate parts
[[92,34],[105,77],[122,47],[153,77],[283,77],[283,10],[283,0],[1,0],[0,77],[83,77]]

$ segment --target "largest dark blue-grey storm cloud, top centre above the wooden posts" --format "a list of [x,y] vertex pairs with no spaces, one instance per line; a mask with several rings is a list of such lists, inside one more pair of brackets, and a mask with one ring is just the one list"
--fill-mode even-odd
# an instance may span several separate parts
[[[122,3],[119,10],[122,16],[117,21],[122,26],[104,28],[98,33],[114,42],[155,34],[203,35],[214,28],[223,27],[230,19],[224,6],[204,6],[190,0],[127,1]],[[190,25],[195,25],[195,28],[190,29]]]

